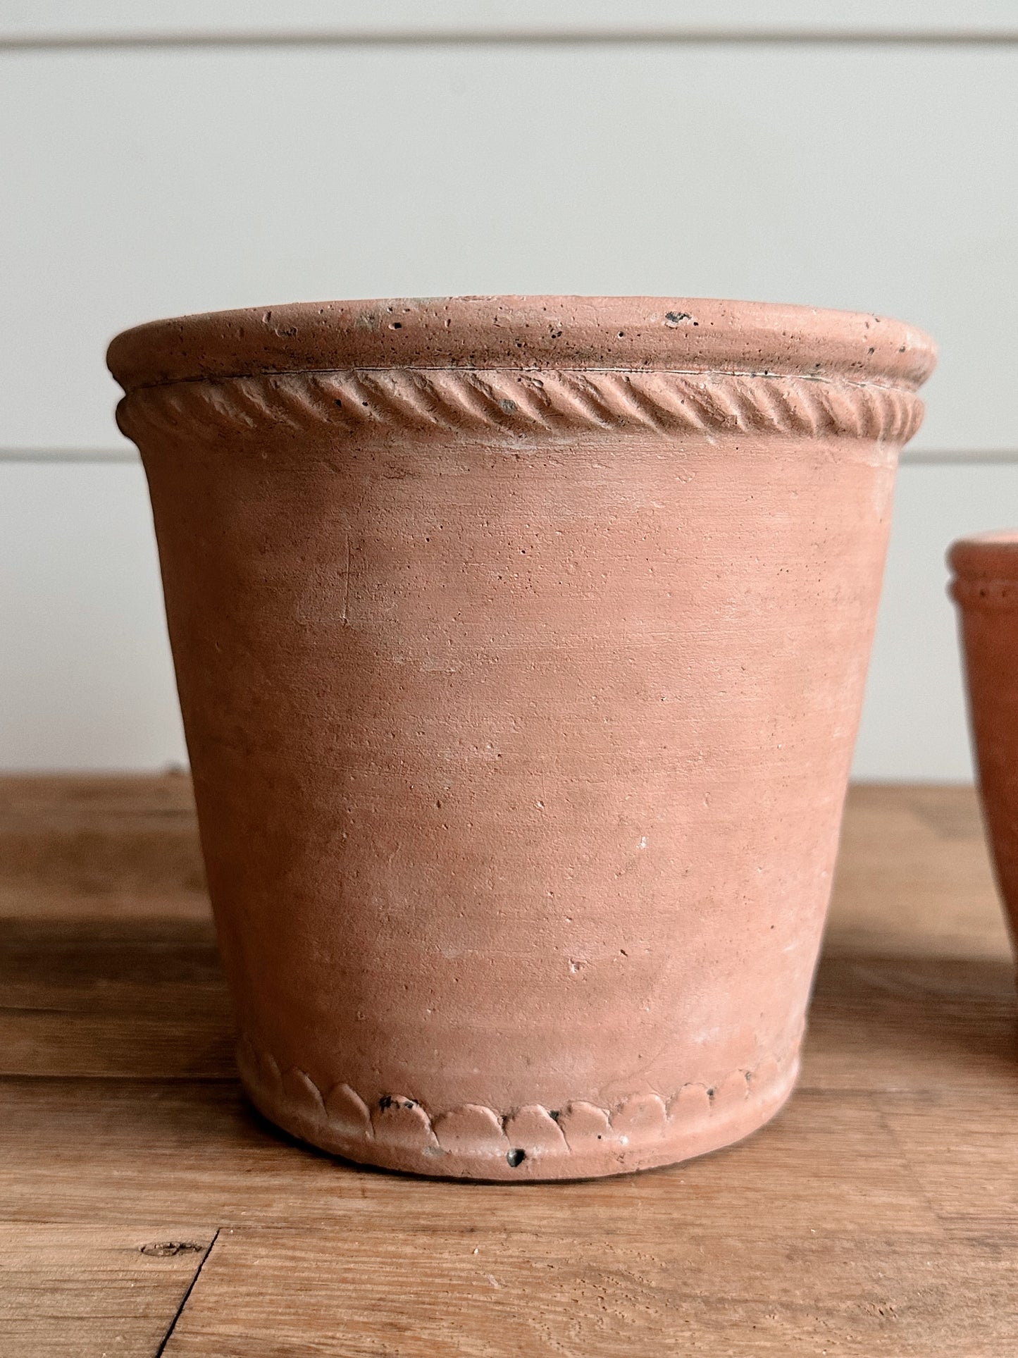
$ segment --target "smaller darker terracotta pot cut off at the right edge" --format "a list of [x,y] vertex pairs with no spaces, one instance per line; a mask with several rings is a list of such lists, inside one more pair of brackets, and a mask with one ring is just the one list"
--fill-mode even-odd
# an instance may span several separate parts
[[969,722],[983,819],[1011,937],[1018,938],[1018,530],[956,542],[951,596],[961,611]]

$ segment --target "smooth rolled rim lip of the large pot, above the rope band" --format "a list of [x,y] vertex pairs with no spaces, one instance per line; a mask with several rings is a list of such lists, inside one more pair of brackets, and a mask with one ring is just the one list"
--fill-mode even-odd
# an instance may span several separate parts
[[934,341],[855,311],[713,297],[464,296],[299,301],[134,326],[107,364],[130,392],[346,369],[738,372],[913,391]]

